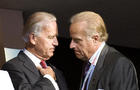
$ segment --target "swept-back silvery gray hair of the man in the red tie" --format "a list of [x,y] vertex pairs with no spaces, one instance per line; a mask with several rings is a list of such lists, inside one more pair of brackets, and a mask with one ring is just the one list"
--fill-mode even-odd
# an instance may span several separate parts
[[53,14],[47,12],[36,12],[32,14],[23,30],[23,39],[27,43],[29,42],[29,35],[33,33],[34,35],[38,36],[39,33],[42,31],[42,26],[48,25],[50,22],[56,21],[56,17]]

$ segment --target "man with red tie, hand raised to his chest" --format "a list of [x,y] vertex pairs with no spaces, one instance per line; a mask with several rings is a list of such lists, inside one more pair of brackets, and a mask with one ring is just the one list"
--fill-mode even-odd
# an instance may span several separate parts
[[29,17],[23,31],[25,48],[2,67],[9,72],[15,90],[67,90],[62,73],[44,62],[53,56],[57,35],[54,15],[36,12]]

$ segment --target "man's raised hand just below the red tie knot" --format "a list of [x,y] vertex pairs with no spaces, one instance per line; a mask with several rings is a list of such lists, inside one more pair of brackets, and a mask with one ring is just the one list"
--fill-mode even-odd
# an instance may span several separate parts
[[37,67],[37,68],[43,76],[46,74],[49,74],[50,76],[54,78],[54,80],[56,80],[55,72],[50,66],[47,66],[47,68],[41,68],[41,67]]

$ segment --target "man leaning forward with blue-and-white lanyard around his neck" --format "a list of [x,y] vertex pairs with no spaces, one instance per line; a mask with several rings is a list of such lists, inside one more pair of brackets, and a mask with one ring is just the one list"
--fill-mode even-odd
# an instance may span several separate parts
[[80,90],[138,90],[132,62],[106,44],[103,19],[91,11],[71,18],[70,48],[85,61]]

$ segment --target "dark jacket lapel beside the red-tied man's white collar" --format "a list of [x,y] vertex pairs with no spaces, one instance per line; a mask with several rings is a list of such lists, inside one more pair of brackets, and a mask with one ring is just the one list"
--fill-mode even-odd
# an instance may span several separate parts
[[23,62],[25,68],[30,70],[35,75],[40,75],[34,63],[22,51],[18,55],[19,60]]

